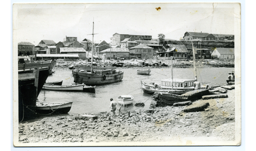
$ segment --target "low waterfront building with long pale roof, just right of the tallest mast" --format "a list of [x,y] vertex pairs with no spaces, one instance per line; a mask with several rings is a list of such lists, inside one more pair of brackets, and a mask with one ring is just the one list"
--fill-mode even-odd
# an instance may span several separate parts
[[117,59],[125,58],[130,59],[130,52],[128,48],[107,48],[99,52],[101,59]]

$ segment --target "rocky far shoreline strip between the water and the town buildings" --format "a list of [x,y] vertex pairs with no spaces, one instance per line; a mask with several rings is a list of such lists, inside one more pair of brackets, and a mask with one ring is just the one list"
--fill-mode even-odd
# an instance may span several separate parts
[[[169,68],[171,65],[171,60],[143,60],[131,59],[131,60],[100,60],[96,61],[98,66],[112,66],[113,64],[122,65],[122,67],[117,68],[143,68],[144,63],[145,66],[150,66],[150,68]],[[84,60],[57,60],[55,64],[55,68],[69,68],[74,65],[74,68],[79,68],[79,65],[89,64],[89,61]],[[226,68],[234,68],[235,62],[234,60],[196,60],[196,67],[204,68],[204,67],[226,67]],[[192,60],[173,60],[174,68],[193,68]]]

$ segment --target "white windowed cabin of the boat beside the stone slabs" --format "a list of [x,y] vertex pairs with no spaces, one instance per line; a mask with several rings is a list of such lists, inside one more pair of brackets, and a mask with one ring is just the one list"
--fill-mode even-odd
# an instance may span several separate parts
[[[194,88],[194,82],[190,79],[173,79],[173,89]],[[172,79],[161,80],[161,88],[172,88]]]

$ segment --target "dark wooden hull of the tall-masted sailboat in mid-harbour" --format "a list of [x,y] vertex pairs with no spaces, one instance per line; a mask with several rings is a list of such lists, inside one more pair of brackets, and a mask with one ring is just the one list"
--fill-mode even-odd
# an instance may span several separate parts
[[120,71],[116,74],[91,74],[85,72],[78,72],[76,70],[72,71],[74,82],[85,85],[100,85],[107,83],[115,83],[119,82],[123,79],[124,72]]

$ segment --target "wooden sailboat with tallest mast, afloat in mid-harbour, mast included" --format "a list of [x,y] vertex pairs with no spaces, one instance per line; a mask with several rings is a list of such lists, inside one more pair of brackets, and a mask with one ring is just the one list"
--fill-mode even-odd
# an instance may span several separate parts
[[[93,22],[94,31],[94,22]],[[92,34],[94,36],[94,33]],[[123,79],[124,72],[119,70],[110,70],[108,72],[95,72],[93,71],[93,45],[92,45],[92,59],[90,72],[86,70],[72,70],[74,82],[85,85],[100,85],[107,83],[119,82]]]

